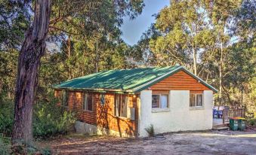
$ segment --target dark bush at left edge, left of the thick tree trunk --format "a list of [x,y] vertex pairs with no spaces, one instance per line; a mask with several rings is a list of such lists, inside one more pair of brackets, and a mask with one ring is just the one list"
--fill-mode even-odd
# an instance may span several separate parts
[[14,120],[14,102],[0,96],[0,133],[11,136]]

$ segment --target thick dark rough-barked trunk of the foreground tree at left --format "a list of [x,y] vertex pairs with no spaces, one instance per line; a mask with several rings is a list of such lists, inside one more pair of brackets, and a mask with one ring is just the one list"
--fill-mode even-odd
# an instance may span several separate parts
[[51,0],[35,1],[35,17],[19,54],[14,101],[13,146],[32,142],[32,105],[51,14]]

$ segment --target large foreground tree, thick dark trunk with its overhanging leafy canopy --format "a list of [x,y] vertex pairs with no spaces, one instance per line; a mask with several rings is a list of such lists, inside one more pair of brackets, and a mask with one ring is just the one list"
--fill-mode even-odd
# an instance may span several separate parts
[[[27,1],[29,6],[30,1]],[[108,38],[121,34],[122,17],[140,14],[143,1],[53,1],[36,0],[34,20],[26,32],[20,50],[15,91],[14,129],[12,143],[32,141],[32,105],[39,81],[40,59],[45,54],[45,41],[59,37],[87,40],[100,33]],[[50,38],[48,29],[51,30]],[[68,44],[68,55],[72,56]],[[77,57],[76,57],[77,58]]]

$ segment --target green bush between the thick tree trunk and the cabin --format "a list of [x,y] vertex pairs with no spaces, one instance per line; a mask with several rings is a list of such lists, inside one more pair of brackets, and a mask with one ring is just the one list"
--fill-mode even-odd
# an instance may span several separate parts
[[75,123],[75,114],[57,105],[57,99],[39,102],[34,107],[33,135],[35,138],[50,138],[69,132]]

